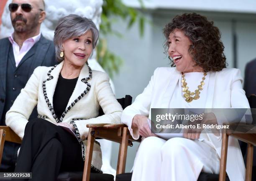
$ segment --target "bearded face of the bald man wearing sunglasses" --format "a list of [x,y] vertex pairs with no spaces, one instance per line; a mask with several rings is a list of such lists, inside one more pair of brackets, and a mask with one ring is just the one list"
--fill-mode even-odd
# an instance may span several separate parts
[[[18,33],[30,33],[40,29],[40,24],[44,20],[44,13],[39,9],[43,9],[42,0],[13,0],[12,3],[19,4],[15,12],[10,13],[13,28]],[[20,4],[28,3],[32,6],[30,12],[25,12]],[[42,13],[42,14],[41,14]],[[42,16],[43,15],[43,16]]]

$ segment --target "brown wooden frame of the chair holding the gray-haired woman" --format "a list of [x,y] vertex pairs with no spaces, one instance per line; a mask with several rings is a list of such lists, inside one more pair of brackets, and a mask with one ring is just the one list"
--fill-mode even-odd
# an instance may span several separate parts
[[[129,137],[128,128],[125,125],[108,125],[108,124],[97,124],[95,126],[93,125],[89,125],[89,126],[90,126],[90,129],[89,129],[90,134],[88,136],[88,142],[87,142],[88,144],[86,149],[84,173],[83,173],[82,181],[90,180],[92,150],[93,150],[95,138],[104,138],[107,140],[112,140],[117,143],[120,143],[117,174],[124,173],[127,146],[132,145],[132,142],[128,141],[128,139],[133,140],[131,136]],[[97,129],[94,129],[94,127]],[[109,127],[111,127],[111,129],[108,129]],[[2,161],[3,148],[4,148],[5,141],[10,141],[10,142],[19,143],[19,144],[22,143],[22,140],[20,139],[20,137],[16,135],[16,133],[14,133],[10,127],[0,126],[0,163]],[[85,163],[88,163],[88,164],[90,163],[90,165]]]

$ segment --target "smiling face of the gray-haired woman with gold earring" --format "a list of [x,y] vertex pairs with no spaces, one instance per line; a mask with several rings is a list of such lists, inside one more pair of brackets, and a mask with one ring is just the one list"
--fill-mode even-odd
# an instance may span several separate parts
[[90,57],[92,47],[92,32],[89,30],[82,36],[69,38],[62,43],[65,63],[82,68]]

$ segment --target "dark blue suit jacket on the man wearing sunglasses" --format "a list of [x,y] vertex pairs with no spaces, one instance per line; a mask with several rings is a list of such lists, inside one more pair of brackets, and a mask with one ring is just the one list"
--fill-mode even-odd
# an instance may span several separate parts
[[[12,50],[12,44],[8,38],[0,39],[0,119],[3,117],[3,110],[6,99],[6,70],[8,63],[8,52]],[[31,62],[27,64],[27,62]],[[26,66],[24,66],[26,62]],[[57,64],[55,58],[55,47],[52,41],[47,40],[41,35],[39,41],[28,51],[28,53],[20,61],[16,70],[28,72],[28,76],[22,81],[25,87],[26,82],[38,66],[54,66]],[[20,71],[20,70],[19,70]],[[14,76],[14,75],[13,75]],[[26,79],[26,80],[25,80]],[[20,92],[20,90],[17,90]],[[3,122],[3,121],[2,121]]]

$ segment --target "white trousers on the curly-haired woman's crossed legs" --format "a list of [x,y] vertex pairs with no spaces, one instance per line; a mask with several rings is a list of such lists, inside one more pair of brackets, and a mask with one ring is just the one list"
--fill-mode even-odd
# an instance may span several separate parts
[[197,181],[199,174],[219,173],[220,158],[207,143],[186,138],[145,138],[134,160],[131,181]]

